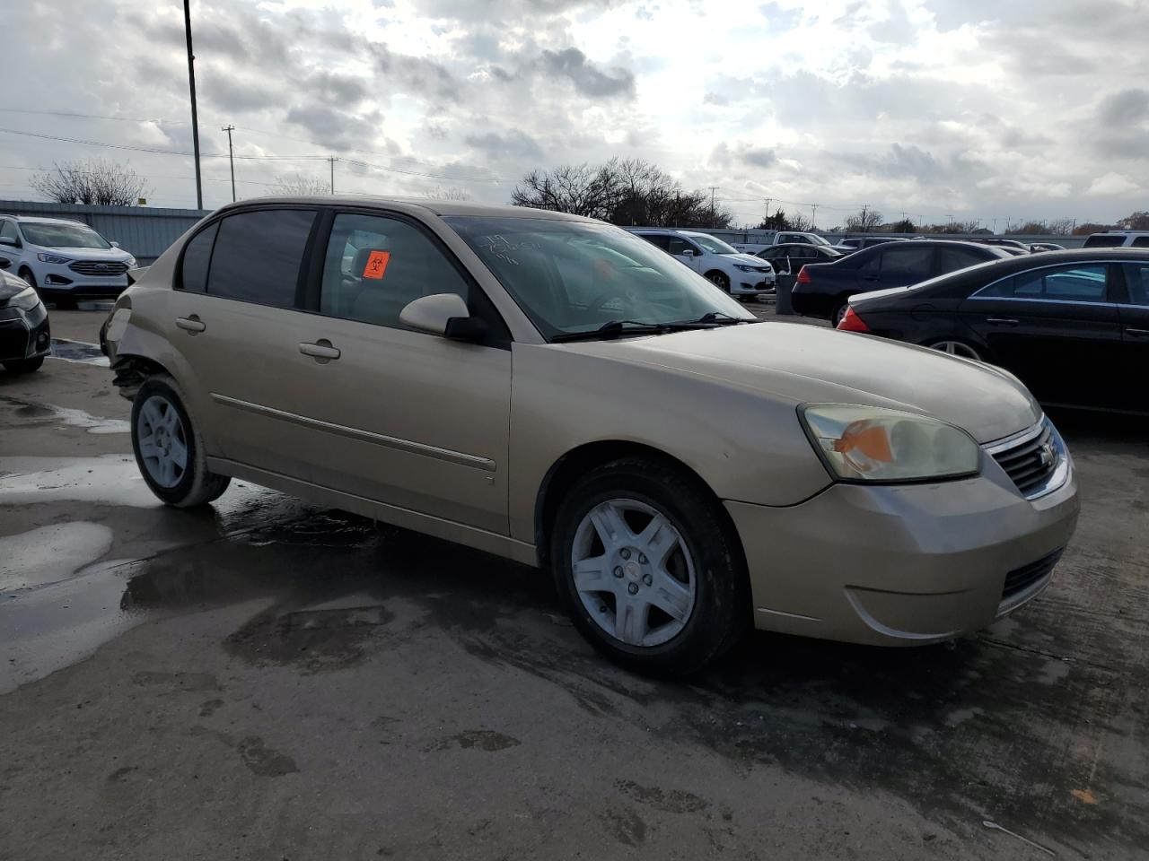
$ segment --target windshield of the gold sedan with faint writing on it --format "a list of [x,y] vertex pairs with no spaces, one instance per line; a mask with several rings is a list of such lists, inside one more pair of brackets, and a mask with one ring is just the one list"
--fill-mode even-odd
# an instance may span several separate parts
[[615,323],[656,326],[707,315],[756,319],[674,257],[611,225],[483,216],[444,220],[547,340]]

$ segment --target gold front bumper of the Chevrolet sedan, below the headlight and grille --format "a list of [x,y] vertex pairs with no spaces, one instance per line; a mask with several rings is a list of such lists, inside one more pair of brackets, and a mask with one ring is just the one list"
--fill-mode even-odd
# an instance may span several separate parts
[[1065,482],[1033,501],[989,461],[961,481],[832,484],[791,507],[725,505],[757,628],[873,645],[953,639],[1023,606],[1049,584],[1079,510],[1072,461]]

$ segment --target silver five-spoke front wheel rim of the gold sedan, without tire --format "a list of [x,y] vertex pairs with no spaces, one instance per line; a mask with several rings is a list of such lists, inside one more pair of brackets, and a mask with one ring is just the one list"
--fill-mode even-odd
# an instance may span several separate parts
[[665,514],[637,499],[610,499],[584,515],[571,573],[591,619],[627,645],[666,643],[694,612],[689,548]]

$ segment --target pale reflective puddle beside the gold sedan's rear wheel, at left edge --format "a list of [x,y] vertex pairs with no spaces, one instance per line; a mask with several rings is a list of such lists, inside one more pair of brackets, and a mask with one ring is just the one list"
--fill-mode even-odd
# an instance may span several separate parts
[[0,457],[0,505],[61,501],[162,505],[131,456]]

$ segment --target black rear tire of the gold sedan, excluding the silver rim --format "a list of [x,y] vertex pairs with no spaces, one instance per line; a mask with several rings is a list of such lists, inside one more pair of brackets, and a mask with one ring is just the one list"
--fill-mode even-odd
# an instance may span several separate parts
[[[180,441],[187,450],[186,466],[176,483],[170,487],[163,486],[153,476],[145,457],[140,453],[140,413],[153,397],[162,398],[175,409],[182,426]],[[231,483],[230,476],[217,475],[208,470],[203,440],[195,419],[187,409],[187,401],[179,386],[167,374],[149,377],[132,400],[132,451],[136,453],[136,464],[144,481],[165,505],[177,509],[205,505],[219,498]]]

